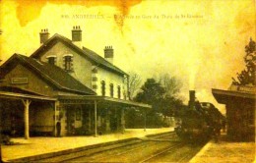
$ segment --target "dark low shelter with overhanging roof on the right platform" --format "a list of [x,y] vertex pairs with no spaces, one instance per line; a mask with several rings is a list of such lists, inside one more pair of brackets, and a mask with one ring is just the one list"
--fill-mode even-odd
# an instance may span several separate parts
[[226,109],[226,136],[233,141],[255,141],[256,86],[231,84],[228,90],[212,89]]

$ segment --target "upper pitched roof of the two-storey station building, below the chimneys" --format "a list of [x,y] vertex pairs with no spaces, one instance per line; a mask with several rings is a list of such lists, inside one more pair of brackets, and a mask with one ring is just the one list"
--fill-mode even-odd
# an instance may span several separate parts
[[102,58],[100,55],[96,54],[96,52],[83,47],[81,49],[77,45],[75,45],[72,40],[68,39],[67,37],[60,35],[58,33],[55,33],[51,38],[49,38],[46,42],[44,42],[35,52],[32,53],[31,57],[38,58],[43,52],[45,52],[47,49],[51,48],[52,45],[54,45],[57,41],[61,41],[70,48],[72,48],[74,51],[76,51],[78,54],[88,58],[91,62],[95,63],[99,67],[103,67],[105,69],[108,69],[109,71],[112,71],[114,73],[120,74],[120,75],[126,75],[125,72],[123,72],[118,67],[114,66],[104,58]]

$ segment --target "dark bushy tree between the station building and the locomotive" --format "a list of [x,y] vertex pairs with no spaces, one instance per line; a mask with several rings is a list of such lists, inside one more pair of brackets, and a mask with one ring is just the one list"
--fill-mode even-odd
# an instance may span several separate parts
[[[175,78],[165,77],[161,80],[148,79],[141,87],[141,91],[134,98],[135,101],[152,105],[147,112],[147,125],[150,127],[162,127],[164,124],[161,116],[173,116],[177,108],[183,107],[183,102],[177,98],[180,84]],[[135,119],[135,118],[133,118]]]

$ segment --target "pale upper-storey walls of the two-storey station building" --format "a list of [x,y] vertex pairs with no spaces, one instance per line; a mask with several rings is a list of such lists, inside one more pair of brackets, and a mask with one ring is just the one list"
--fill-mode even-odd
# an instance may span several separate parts
[[[114,85],[114,98],[118,98],[117,86],[121,87],[121,99],[124,99],[124,93],[127,96],[127,85],[124,84],[123,75],[117,75],[111,71],[103,69],[101,67],[93,66],[93,64],[85,57],[77,54],[75,51],[67,47],[62,42],[56,43],[49,51],[47,51],[40,58],[43,62],[48,62],[48,56],[56,56],[56,66],[64,69],[63,56],[67,54],[73,55],[73,73],[70,73],[75,79],[81,81],[88,87],[94,89],[97,95],[101,95],[101,81],[105,81],[105,96],[110,96],[110,83]],[[97,73],[93,73],[93,69],[96,67]],[[97,78],[97,81],[93,81],[93,77]],[[93,88],[93,84],[96,84],[96,88]]]

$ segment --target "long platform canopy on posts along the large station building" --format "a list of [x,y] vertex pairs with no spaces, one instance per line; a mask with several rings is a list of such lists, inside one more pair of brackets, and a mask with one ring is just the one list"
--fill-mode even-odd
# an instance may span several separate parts
[[[61,93],[61,92],[59,92]],[[151,105],[107,97],[107,96],[96,96],[96,95],[79,95],[79,94],[59,94],[57,96],[44,96],[41,94],[37,94],[35,92],[25,90],[19,87],[0,87],[0,99],[14,99],[14,100],[22,100],[24,104],[24,115],[25,115],[25,138],[28,139],[30,137],[30,123],[29,123],[29,110],[30,104],[34,100],[39,101],[52,101],[57,102],[59,101],[62,105],[80,105],[80,104],[90,104],[94,105],[95,110],[95,122],[97,119],[97,110],[101,107],[108,107],[114,106],[116,108],[121,109],[122,118],[124,118],[124,109],[137,107],[143,109],[145,114],[146,111],[152,108]],[[56,114],[56,113],[55,113]],[[54,116],[55,117],[55,116]],[[56,121],[56,120],[55,120]],[[122,129],[124,130],[124,123],[122,124]],[[146,130],[146,116],[145,116],[145,130]],[[95,136],[97,136],[97,123],[95,123]]]

